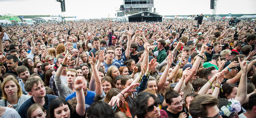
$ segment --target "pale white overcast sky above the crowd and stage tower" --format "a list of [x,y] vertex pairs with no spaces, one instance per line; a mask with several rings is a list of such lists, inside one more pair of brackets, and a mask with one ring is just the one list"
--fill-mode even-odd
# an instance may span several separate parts
[[[123,0],[65,0],[65,16],[79,19],[115,17]],[[58,15],[56,0],[0,0],[0,15]],[[212,14],[210,0],[155,0],[160,15]],[[218,0],[216,14],[256,14],[256,0]],[[153,10],[153,9],[152,9]]]

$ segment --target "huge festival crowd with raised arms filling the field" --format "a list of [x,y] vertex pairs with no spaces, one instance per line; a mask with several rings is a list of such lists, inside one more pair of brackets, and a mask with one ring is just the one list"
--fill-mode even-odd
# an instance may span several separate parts
[[0,117],[255,118],[255,22],[1,28]]

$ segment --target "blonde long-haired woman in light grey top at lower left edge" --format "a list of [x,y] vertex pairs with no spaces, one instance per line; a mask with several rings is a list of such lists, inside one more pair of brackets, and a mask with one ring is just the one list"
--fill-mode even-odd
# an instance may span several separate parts
[[12,76],[5,78],[1,88],[3,90],[3,97],[0,100],[1,107],[10,107],[18,111],[20,106],[30,99],[30,96],[22,94],[18,81]]

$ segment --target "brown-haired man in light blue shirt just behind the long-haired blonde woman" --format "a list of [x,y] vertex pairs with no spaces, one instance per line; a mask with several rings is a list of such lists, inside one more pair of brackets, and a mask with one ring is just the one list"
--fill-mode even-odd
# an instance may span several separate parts
[[25,83],[26,81],[29,79],[30,73],[29,73],[29,69],[25,66],[19,66],[17,68],[17,74],[18,77],[21,79],[21,81],[19,82],[19,85],[22,89],[23,94],[28,94],[28,92],[26,92],[25,90]]

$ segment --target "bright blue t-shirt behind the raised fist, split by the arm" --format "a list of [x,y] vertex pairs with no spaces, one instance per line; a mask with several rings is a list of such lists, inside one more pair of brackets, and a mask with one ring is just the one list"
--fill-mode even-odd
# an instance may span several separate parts
[[[69,94],[66,97],[66,101],[71,100],[72,98],[74,98],[76,95],[76,92]],[[89,91],[87,90],[87,95],[85,96],[85,108],[88,109],[94,102],[94,97],[95,97],[95,93],[94,91]]]

